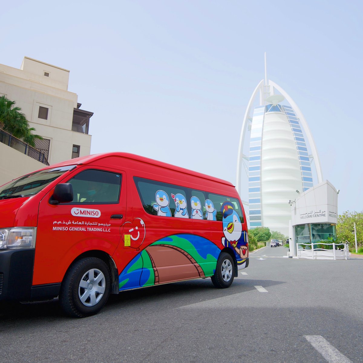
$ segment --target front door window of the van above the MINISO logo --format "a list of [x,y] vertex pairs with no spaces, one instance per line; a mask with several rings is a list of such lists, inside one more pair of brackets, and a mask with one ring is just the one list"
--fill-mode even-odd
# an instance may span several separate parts
[[77,174],[68,183],[73,187],[72,203],[117,203],[121,174],[88,169]]

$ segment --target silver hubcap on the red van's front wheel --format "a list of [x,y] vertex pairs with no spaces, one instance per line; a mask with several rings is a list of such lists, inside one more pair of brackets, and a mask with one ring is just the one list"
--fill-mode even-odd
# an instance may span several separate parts
[[105,293],[106,279],[98,269],[88,270],[78,286],[78,296],[85,306],[95,306]]

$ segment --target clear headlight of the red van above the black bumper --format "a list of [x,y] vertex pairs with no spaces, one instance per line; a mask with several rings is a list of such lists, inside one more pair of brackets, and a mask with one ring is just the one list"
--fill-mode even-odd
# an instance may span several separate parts
[[0,228],[0,249],[35,247],[35,227]]

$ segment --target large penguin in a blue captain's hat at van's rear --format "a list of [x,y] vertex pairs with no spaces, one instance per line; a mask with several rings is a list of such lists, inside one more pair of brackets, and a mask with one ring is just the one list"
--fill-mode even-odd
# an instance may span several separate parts
[[[231,202],[224,202],[221,206],[223,233],[222,244],[231,247],[241,258],[246,258],[247,239],[242,233],[242,223],[239,215],[233,209]],[[239,258],[238,257],[238,258]]]

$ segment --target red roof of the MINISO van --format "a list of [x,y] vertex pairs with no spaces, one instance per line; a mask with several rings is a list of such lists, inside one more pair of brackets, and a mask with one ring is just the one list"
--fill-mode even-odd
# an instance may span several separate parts
[[139,156],[139,155],[135,155],[135,154],[131,154],[131,153],[120,153],[120,152],[101,153],[101,154],[93,154],[93,155],[82,156],[82,157],[79,157],[79,158],[74,158],[74,159],[71,159],[71,160],[62,161],[62,162],[57,163],[57,164],[49,165],[48,167],[42,168],[41,170],[49,169],[49,168],[57,168],[57,167],[66,166],[66,165],[91,164],[92,162],[99,161],[99,160],[107,158],[107,157],[120,157],[120,158],[124,158],[124,159],[143,162],[143,163],[150,164],[150,165],[157,165],[157,166],[159,166],[161,168],[165,168],[165,169],[169,169],[169,170],[175,170],[175,171],[180,172],[180,173],[189,174],[189,175],[192,175],[192,176],[196,176],[196,177],[199,177],[199,178],[204,178],[204,179],[216,181],[216,182],[223,183],[225,185],[229,185],[229,186],[234,187],[234,185],[231,182],[227,181],[227,180],[223,180],[223,179],[220,179],[220,178],[215,178],[215,177],[209,176],[207,174],[194,172],[193,170],[184,169],[184,168],[181,168],[180,166],[167,164],[165,162],[157,161],[157,160],[150,159],[150,158],[147,158],[147,157],[144,157],[144,156]]

